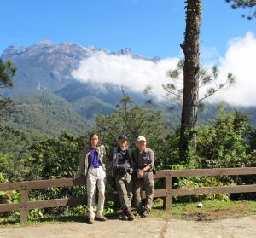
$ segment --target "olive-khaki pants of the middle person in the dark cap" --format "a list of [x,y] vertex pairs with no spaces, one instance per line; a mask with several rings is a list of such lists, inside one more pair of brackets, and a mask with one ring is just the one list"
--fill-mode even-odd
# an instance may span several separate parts
[[131,174],[126,172],[123,176],[115,177],[115,183],[119,193],[119,202],[123,210],[131,208],[133,190]]

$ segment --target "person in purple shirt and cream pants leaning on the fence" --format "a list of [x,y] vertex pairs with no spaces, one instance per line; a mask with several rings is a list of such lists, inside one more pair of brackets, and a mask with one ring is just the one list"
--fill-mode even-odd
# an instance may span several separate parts
[[[103,145],[98,145],[99,136],[96,132],[90,135],[90,148],[84,147],[84,151],[79,164],[79,177],[86,177],[87,203],[88,203],[88,223],[92,224],[95,218],[106,221],[103,216],[105,201],[105,181],[106,181],[106,150]],[[95,216],[93,210],[95,206],[96,184],[98,194],[98,211]]]

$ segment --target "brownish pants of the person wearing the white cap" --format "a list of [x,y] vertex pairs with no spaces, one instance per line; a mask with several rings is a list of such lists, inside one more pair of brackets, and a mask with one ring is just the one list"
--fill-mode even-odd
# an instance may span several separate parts
[[147,177],[138,179],[135,177],[135,206],[137,212],[142,212],[143,209],[143,189],[145,189],[146,203],[145,207],[151,210],[154,195],[154,175],[150,171]]

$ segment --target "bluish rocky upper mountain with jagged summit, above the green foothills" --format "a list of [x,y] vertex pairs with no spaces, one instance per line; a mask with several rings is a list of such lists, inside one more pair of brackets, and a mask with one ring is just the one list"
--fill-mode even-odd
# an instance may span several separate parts
[[[14,78],[15,87],[7,93],[19,96],[32,90],[61,90],[76,81],[72,72],[79,67],[80,61],[99,51],[108,55],[131,55],[136,59],[151,61],[134,55],[129,48],[108,53],[105,49],[86,48],[71,42],[52,44],[49,41],[20,48],[9,46],[3,51],[1,59],[13,61],[17,74]],[[157,57],[152,59],[157,60]]]

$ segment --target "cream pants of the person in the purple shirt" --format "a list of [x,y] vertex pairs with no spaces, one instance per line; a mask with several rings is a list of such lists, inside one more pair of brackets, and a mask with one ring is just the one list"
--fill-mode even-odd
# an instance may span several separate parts
[[95,191],[96,185],[99,191],[98,194],[98,211],[97,215],[103,214],[104,201],[105,201],[105,180],[106,172],[102,167],[90,167],[86,176],[86,189],[87,189],[87,204],[88,204],[88,217],[95,218],[93,207],[95,206]]

